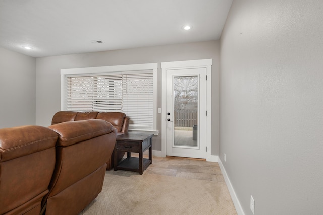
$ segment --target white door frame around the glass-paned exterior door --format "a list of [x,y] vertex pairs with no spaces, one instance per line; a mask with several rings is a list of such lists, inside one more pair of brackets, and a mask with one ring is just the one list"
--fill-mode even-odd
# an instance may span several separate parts
[[166,157],[166,73],[167,70],[206,68],[206,161],[211,158],[211,65],[212,59],[187,60],[161,63],[161,156]]

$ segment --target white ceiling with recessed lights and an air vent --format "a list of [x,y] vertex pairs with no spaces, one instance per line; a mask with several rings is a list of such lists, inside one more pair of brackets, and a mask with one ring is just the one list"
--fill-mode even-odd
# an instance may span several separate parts
[[[232,0],[0,0],[0,46],[33,57],[220,39]],[[184,25],[191,25],[189,31]],[[102,43],[92,41],[101,40]],[[30,46],[32,50],[25,50]]]

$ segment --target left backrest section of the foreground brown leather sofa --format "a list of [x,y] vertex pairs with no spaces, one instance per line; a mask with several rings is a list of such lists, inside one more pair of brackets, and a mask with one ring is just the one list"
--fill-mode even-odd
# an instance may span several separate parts
[[35,125],[0,129],[0,214],[39,214],[58,134]]

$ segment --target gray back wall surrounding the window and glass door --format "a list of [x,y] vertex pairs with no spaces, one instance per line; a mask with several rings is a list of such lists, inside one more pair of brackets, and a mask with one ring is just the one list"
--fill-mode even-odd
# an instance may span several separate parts
[[[36,124],[50,125],[53,114],[61,109],[60,69],[92,66],[158,63],[157,107],[161,107],[160,62],[213,59],[212,65],[212,155],[219,153],[219,69],[220,41],[164,45],[116,51],[72,54],[36,59]],[[161,114],[157,115],[159,135],[153,150],[161,150]]]

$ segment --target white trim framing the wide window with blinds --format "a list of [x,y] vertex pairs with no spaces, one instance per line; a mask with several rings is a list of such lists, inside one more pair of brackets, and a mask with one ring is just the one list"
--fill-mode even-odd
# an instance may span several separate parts
[[67,76],[71,75],[99,75],[99,74],[123,74],[126,71],[145,71],[153,70],[153,129],[152,130],[140,130],[140,129],[131,129],[129,132],[140,132],[140,133],[151,133],[158,135],[159,131],[156,130],[157,125],[157,68],[158,63],[145,63],[145,64],[132,64],[132,65],[115,65],[115,66],[97,66],[97,67],[86,67],[86,68],[68,68],[61,69],[61,110],[64,110],[65,107],[65,84],[67,81]]

